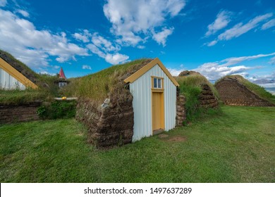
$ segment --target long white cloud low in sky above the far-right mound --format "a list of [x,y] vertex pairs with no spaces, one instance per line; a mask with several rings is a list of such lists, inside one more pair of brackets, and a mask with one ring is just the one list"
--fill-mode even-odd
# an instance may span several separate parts
[[226,75],[235,74],[247,77],[247,70],[259,69],[262,68],[262,66],[245,66],[237,64],[242,63],[243,61],[250,61],[256,58],[262,58],[267,56],[275,56],[275,53],[259,54],[257,56],[226,58],[222,61],[204,63],[194,70],[196,72],[200,72],[202,75],[207,77],[208,80],[218,80],[219,78],[224,77]]

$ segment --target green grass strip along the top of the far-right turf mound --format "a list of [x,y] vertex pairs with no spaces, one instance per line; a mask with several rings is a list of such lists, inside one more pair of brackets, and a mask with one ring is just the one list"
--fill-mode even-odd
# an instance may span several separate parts
[[247,87],[247,89],[252,91],[254,94],[259,96],[260,98],[264,98],[265,100],[270,101],[271,103],[275,104],[275,96],[274,95],[272,95],[270,92],[266,91],[264,89],[264,87],[260,87],[257,84],[253,84],[252,82],[245,80],[245,78],[240,75],[227,75],[225,77],[221,77],[221,79],[219,79],[215,82],[215,85],[218,82],[220,82],[221,80],[228,79],[228,78],[237,80],[240,84],[243,84],[245,87]]

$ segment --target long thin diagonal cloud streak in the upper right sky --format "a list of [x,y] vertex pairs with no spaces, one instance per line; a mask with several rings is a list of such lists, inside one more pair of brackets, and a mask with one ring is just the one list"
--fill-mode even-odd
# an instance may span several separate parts
[[254,29],[264,20],[267,20],[267,18],[270,18],[273,14],[267,13],[265,15],[258,15],[257,17],[250,20],[248,23],[243,25],[243,23],[238,23],[234,27],[232,27],[229,30],[226,30],[224,33],[219,34],[218,39],[219,40],[229,40],[233,39],[234,37],[239,37],[242,34],[245,34],[246,32]]

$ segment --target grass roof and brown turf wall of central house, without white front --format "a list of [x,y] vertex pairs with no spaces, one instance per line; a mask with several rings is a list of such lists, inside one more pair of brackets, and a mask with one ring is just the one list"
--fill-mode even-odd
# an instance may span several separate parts
[[140,59],[114,65],[92,75],[75,78],[63,89],[67,95],[78,97],[76,118],[87,125],[90,143],[102,148],[132,141],[133,96],[123,80],[150,61]]

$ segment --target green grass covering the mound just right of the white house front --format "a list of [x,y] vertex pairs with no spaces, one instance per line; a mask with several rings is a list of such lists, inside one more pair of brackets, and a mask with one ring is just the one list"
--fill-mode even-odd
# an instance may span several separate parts
[[[185,96],[185,112],[188,122],[195,120],[197,117],[205,113],[205,109],[200,108],[199,96],[202,92],[202,84],[207,84],[212,89],[214,96],[219,98],[218,91],[214,88],[207,78],[200,75],[198,72],[193,72],[191,75],[175,77],[180,84],[180,94]],[[213,110],[215,111],[215,110]]]

